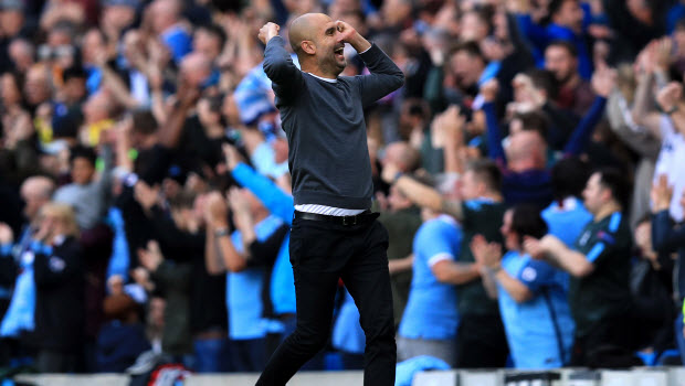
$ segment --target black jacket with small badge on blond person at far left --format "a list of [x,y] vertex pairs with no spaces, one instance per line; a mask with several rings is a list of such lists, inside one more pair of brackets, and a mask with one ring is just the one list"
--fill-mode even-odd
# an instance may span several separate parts
[[75,238],[66,237],[52,248],[35,248],[34,253],[38,346],[77,354],[83,347],[85,319],[81,246]]

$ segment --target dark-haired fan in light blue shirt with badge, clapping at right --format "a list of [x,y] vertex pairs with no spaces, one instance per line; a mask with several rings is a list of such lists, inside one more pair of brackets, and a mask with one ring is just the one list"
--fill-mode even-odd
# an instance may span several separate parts
[[540,238],[547,225],[535,206],[520,205],[504,214],[502,236],[507,249],[473,238],[471,249],[483,267],[488,292],[499,312],[516,368],[561,367],[573,344],[573,320],[567,301],[567,277],[545,261],[530,258],[525,237]]

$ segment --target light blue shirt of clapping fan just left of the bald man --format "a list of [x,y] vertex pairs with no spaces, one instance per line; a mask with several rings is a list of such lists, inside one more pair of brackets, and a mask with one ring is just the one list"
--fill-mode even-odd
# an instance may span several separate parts
[[[283,222],[273,215],[254,226],[256,239],[267,239]],[[233,232],[231,242],[239,254],[243,253],[242,234]],[[229,335],[233,340],[265,337],[270,321],[263,317],[262,291],[266,271],[262,268],[246,268],[226,275],[226,307],[229,309]]]

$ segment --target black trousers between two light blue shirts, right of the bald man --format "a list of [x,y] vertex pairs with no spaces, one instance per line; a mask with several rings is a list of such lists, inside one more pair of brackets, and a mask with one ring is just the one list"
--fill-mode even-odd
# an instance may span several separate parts
[[460,318],[456,331],[457,368],[504,367],[509,354],[504,324],[498,315]]

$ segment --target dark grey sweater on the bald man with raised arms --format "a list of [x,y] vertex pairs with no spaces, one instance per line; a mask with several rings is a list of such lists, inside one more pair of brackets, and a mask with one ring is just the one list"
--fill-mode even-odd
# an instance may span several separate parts
[[264,72],[273,82],[288,139],[295,205],[370,208],[373,183],[363,108],[400,88],[402,71],[372,45],[360,55],[370,75],[329,83],[301,72],[284,44],[280,36],[268,41]]

